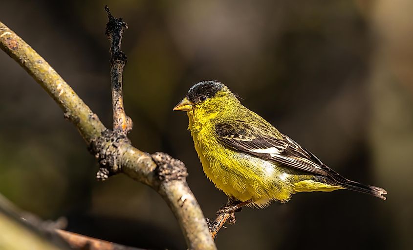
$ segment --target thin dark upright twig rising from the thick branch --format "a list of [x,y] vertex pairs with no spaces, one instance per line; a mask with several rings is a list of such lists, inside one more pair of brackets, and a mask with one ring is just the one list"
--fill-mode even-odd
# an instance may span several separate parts
[[[132,129],[130,118],[126,115],[123,105],[122,75],[127,62],[125,53],[120,50],[123,31],[128,25],[122,19],[116,19],[105,6],[109,22],[106,24],[106,36],[110,40],[110,82],[112,85],[113,130],[128,133]],[[128,119],[129,118],[129,119]],[[129,121],[129,122],[128,122]]]

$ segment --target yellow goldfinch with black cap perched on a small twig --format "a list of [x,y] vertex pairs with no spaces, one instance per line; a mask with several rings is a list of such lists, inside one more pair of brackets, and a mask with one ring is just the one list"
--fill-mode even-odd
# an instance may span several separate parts
[[188,130],[206,176],[238,201],[227,212],[286,202],[296,192],[348,189],[386,199],[386,190],[348,180],[327,167],[218,81],[195,84],[174,110],[188,114]]

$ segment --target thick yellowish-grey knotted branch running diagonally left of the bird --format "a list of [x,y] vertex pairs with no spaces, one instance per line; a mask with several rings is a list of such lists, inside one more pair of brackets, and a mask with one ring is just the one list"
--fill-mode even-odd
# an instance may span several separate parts
[[62,77],[2,22],[0,48],[17,61],[61,106],[65,117],[76,125],[91,153],[108,170],[107,173],[102,172],[103,175],[122,172],[151,186],[162,195],[174,212],[190,249],[216,249],[205,217],[186,182],[186,168],[182,162],[167,154],[156,154],[154,158],[158,161],[155,163],[151,155],[131,146],[123,132],[106,129],[98,116]]

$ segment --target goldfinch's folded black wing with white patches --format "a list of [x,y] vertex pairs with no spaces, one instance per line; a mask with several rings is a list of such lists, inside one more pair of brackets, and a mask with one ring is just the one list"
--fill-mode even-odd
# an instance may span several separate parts
[[275,135],[260,127],[237,121],[237,124],[216,125],[216,134],[219,142],[233,150],[273,160],[316,175],[338,175],[314,154],[281,133]]

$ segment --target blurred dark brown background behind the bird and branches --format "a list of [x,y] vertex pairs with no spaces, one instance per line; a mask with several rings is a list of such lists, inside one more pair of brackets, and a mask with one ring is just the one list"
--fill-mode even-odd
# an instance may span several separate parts
[[[410,249],[413,245],[411,0],[0,0],[0,18],[111,126],[108,4],[129,29],[122,50],[130,139],[188,167],[204,214],[226,203],[202,172],[184,113],[201,80],[219,80],[344,176],[387,201],[336,191],[243,209],[218,249]],[[152,250],[186,249],[166,203],[97,163],[43,89],[0,53],[0,193],[67,230]],[[1,232],[0,232],[1,233]]]

